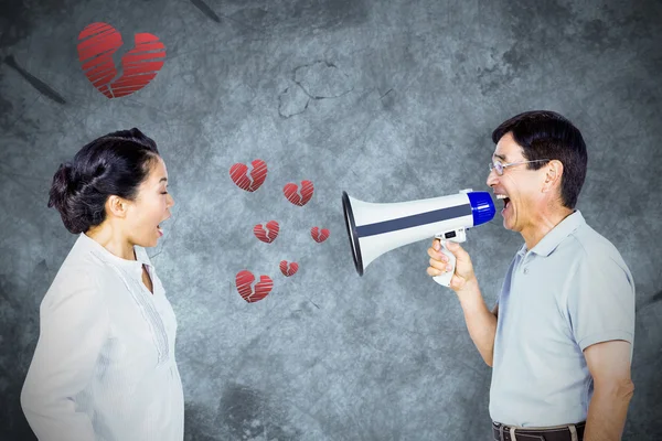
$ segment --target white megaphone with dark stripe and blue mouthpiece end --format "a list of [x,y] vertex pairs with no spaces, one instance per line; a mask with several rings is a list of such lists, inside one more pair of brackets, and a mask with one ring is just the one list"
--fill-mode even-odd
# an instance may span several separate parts
[[492,220],[496,213],[490,193],[471,189],[448,196],[383,204],[359,201],[342,192],[342,208],[359,276],[381,255],[436,237],[441,239],[441,251],[452,267],[433,277],[444,287],[450,286],[456,267],[446,241],[466,241],[467,229]]

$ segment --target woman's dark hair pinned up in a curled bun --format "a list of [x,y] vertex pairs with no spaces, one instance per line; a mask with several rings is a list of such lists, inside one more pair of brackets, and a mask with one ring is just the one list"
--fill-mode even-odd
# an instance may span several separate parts
[[135,201],[138,186],[158,159],[156,142],[140,130],[120,130],[83,147],[53,175],[49,208],[55,207],[66,229],[87,232],[106,219],[108,196]]

